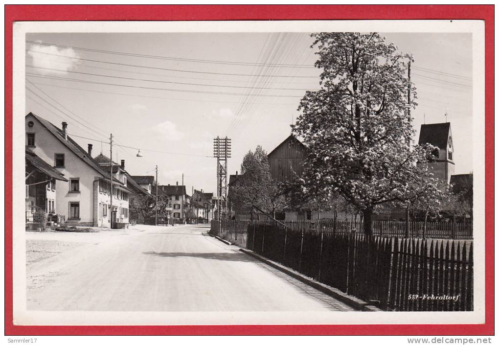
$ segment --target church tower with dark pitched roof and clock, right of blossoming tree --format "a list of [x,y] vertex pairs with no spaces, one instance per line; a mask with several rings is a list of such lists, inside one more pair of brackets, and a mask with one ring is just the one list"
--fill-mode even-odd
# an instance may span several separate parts
[[454,175],[454,144],[450,122],[421,125],[419,144],[432,144],[438,147],[438,159],[429,163],[435,178],[449,184]]

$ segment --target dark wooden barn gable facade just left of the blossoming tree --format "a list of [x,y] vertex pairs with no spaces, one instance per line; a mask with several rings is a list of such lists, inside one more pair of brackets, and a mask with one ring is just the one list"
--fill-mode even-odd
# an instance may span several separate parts
[[294,135],[288,136],[268,155],[268,164],[272,177],[280,182],[291,181],[295,173],[303,172],[303,162],[306,157],[305,146]]

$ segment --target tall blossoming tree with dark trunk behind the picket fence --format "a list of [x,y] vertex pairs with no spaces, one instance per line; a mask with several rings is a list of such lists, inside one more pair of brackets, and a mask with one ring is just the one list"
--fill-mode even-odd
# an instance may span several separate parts
[[413,58],[378,33],[312,36],[321,87],[305,93],[293,126],[309,151],[303,190],[341,195],[363,212],[364,231],[372,235],[378,205],[438,193],[427,165],[433,147],[409,147],[415,131],[407,110],[417,105],[407,77]]

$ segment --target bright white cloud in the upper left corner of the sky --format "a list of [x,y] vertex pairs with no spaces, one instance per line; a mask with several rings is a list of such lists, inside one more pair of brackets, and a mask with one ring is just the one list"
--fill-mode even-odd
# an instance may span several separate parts
[[52,75],[64,75],[76,69],[79,57],[72,48],[41,44],[31,44],[28,55],[31,57],[28,64],[33,65],[37,73]]

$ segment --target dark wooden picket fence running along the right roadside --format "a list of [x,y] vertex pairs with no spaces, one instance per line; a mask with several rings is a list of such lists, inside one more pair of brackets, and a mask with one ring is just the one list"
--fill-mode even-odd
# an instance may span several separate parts
[[384,310],[473,310],[473,241],[369,238],[303,224],[227,221],[211,232]]

